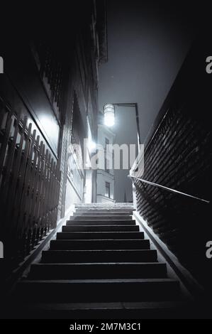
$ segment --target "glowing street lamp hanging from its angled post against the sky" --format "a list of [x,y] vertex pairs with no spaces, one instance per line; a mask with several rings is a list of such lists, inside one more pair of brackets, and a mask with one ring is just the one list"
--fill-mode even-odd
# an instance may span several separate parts
[[113,126],[115,124],[115,106],[135,108],[137,135],[138,135],[138,150],[139,150],[141,141],[140,141],[138,103],[107,103],[105,104],[104,105],[104,124],[106,126]]

